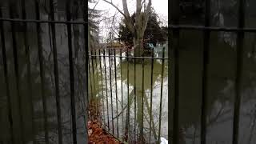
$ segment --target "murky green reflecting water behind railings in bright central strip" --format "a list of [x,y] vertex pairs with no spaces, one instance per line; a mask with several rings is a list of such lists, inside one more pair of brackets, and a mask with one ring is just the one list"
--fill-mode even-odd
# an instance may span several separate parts
[[[162,53],[162,52],[160,52]],[[120,54],[117,50],[117,54]],[[125,56],[122,53],[122,56]],[[103,54],[102,54],[103,56]],[[120,55],[117,55],[120,56]],[[162,54],[155,52],[156,57],[162,58]],[[114,69],[114,61],[116,61],[116,71]],[[106,65],[105,65],[106,63]],[[154,142],[154,138],[157,139],[158,136],[158,122],[159,122],[159,110],[160,110],[160,89],[161,89],[161,79],[162,79],[162,59],[155,59],[153,63],[153,77],[152,77],[152,122],[151,122],[151,132],[150,128],[150,90],[151,90],[151,59],[145,59],[144,61],[144,84],[142,84],[142,63],[127,62],[126,58],[113,58],[106,54],[106,58],[94,58],[91,59],[91,77],[90,82],[93,85],[91,90],[96,97],[104,99],[102,104],[103,121],[106,124],[110,124],[110,132],[114,131],[114,134],[119,135],[120,138],[126,137],[129,126],[129,137],[130,142],[134,139],[138,140],[139,132],[142,125],[142,94],[143,96],[143,131],[146,142],[149,139],[149,134],[151,134],[151,141]],[[98,67],[96,67],[96,65]],[[92,67],[94,66],[94,68]],[[100,70],[100,67],[106,67]],[[162,98],[162,126],[161,134],[162,137],[167,137],[167,61],[165,60],[163,73],[163,98]],[[98,70],[97,70],[98,69]],[[111,71],[110,71],[111,70]],[[129,73],[128,73],[129,70]],[[98,74],[97,74],[98,71]],[[102,72],[103,74],[101,74]],[[110,75],[111,72],[111,75]],[[115,84],[115,73],[117,74],[117,85]],[[106,74],[106,76],[105,76]],[[103,77],[102,77],[103,76]],[[111,79],[110,79],[111,76]],[[103,82],[101,82],[103,81]],[[106,81],[106,82],[105,82]],[[111,89],[110,89],[111,81]],[[103,84],[103,86],[102,86]],[[127,85],[128,84],[128,85]],[[94,88],[96,86],[96,88]],[[115,90],[117,86],[117,91]],[[144,91],[142,91],[142,86],[144,86]],[[128,92],[129,88],[129,92]],[[103,90],[103,91],[101,91]],[[111,91],[112,90],[112,91]],[[103,92],[103,97],[102,97]],[[107,94],[107,95],[106,95]],[[111,98],[112,94],[112,98]],[[117,94],[117,95],[116,95]],[[128,96],[129,95],[129,96]],[[134,95],[136,95],[134,97]],[[118,96],[116,98],[116,96]],[[128,105],[129,99],[129,105]],[[106,106],[108,104],[108,106]],[[135,107],[136,106],[136,107]],[[127,111],[130,108],[129,112]],[[106,110],[108,109],[108,110]],[[128,117],[127,114],[130,114]],[[113,116],[112,116],[113,114]],[[109,117],[109,121],[107,119]],[[112,122],[112,118],[114,119]],[[130,121],[130,125],[127,121]],[[118,126],[117,126],[118,124]],[[114,127],[114,129],[113,129]]]

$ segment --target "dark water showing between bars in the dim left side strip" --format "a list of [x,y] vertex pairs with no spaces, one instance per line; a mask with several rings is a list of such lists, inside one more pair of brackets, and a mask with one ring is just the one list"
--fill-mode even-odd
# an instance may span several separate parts
[[[62,27],[63,28],[63,27]],[[62,34],[62,28],[60,28],[59,34]],[[57,123],[57,112],[56,112],[56,98],[54,94],[54,62],[53,62],[53,53],[47,45],[47,40],[49,35],[47,34],[47,27],[42,26],[42,44],[43,47],[43,67],[45,70],[45,90],[46,95],[46,113],[47,113],[47,131],[49,133],[50,143],[58,142],[58,123]],[[24,138],[26,142],[30,142],[35,137],[35,140],[38,142],[44,142],[44,133],[45,133],[45,124],[44,124],[44,112],[42,108],[42,90],[41,90],[41,79],[40,79],[40,69],[38,62],[38,43],[37,43],[37,34],[29,32],[29,46],[30,46],[30,62],[31,62],[31,85],[32,85],[32,100],[29,97],[28,83],[27,83],[27,64],[26,64],[26,54],[24,50],[24,42],[22,34],[17,33],[17,42],[18,42],[18,68],[20,76],[20,96],[22,98],[22,111],[18,110],[18,97],[16,91],[16,79],[14,76],[14,58],[12,43],[8,40],[10,38],[10,33],[6,33],[6,55],[7,55],[7,64],[8,64],[8,74],[10,82],[10,98],[11,98],[11,109],[12,116],[14,120],[14,138],[18,141],[21,139],[20,131],[20,117],[22,114],[23,117],[23,131]],[[58,34],[57,34],[58,38]],[[57,41],[58,43],[58,41]],[[58,45],[57,47],[60,47]],[[83,51],[82,46],[77,47],[78,50]],[[59,50],[59,49],[58,49]],[[2,50],[0,52],[2,55]],[[69,80],[69,62],[68,53],[66,50],[61,50],[58,54],[58,64],[59,64],[59,87],[60,87],[60,102],[61,102],[61,122],[62,122],[62,136],[64,143],[70,143],[71,137],[71,119],[70,119],[70,80]],[[0,91],[3,94],[0,96],[0,122],[2,130],[0,133],[0,142],[1,140],[6,141],[10,138],[10,124],[8,122],[7,113],[7,99],[6,99],[6,86],[4,81],[3,66],[2,66],[2,57],[0,65]],[[86,118],[86,77],[85,77],[85,68],[84,68],[85,56],[83,53],[76,54],[74,57],[74,87],[75,87],[75,102],[77,109],[77,122],[78,122],[78,137],[82,135],[79,139],[82,142],[85,142],[86,133],[85,128],[85,119]],[[32,130],[32,114],[30,103],[34,106],[34,131]],[[25,136],[26,134],[26,136]],[[3,137],[2,137],[3,136]],[[78,140],[78,141],[80,141]]]

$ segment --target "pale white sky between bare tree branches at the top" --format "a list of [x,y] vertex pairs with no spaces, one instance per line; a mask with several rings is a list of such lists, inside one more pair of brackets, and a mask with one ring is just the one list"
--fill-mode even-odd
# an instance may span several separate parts
[[[109,0],[111,1],[111,0]],[[110,4],[102,1],[102,0],[98,0],[96,1],[98,2],[97,6],[95,7],[95,10],[103,10],[102,12],[102,16],[105,18],[110,18],[112,17],[117,10],[111,6]],[[122,0],[112,0],[112,2],[118,6],[118,8],[120,10],[122,10]],[[146,1],[147,2],[147,1]],[[136,0],[127,0],[127,4],[128,4],[128,9],[130,14],[134,13],[134,10],[136,8]],[[95,3],[90,4],[89,3],[90,8],[93,8],[95,6]],[[152,0],[152,6],[155,10],[155,12],[158,14],[158,16],[161,18],[159,19],[160,21],[162,21],[164,23],[164,25],[167,25],[168,23],[168,0]],[[118,26],[120,19],[122,18],[122,14],[118,14],[116,19],[114,20],[114,25]],[[110,27],[109,26],[109,22],[101,22],[100,23],[100,35],[102,35],[102,37],[106,38],[106,34],[108,34],[108,32],[110,31],[109,29],[107,29],[106,27]]]

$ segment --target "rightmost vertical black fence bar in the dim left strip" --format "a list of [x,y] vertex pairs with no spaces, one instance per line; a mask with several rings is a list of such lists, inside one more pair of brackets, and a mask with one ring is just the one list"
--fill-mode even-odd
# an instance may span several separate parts
[[[70,5],[71,1],[66,2],[66,19],[71,20],[70,16]],[[68,38],[68,49],[69,49],[69,64],[70,64],[70,106],[71,106],[71,119],[72,119],[72,136],[73,143],[77,143],[77,123],[76,123],[76,110],[75,110],[75,99],[74,99],[74,62],[73,62],[73,50],[72,50],[72,31],[71,24],[67,23],[67,38]]]

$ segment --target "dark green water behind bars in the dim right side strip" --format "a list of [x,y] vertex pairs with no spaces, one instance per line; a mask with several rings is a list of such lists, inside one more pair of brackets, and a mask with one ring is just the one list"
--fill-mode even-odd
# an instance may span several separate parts
[[[252,38],[252,35],[247,35]],[[180,131],[182,143],[200,142],[201,86],[202,86],[202,41],[203,33],[184,30],[180,41]],[[234,114],[234,77],[236,47],[218,39],[218,33],[210,35],[209,82],[207,93],[208,143],[231,143]],[[235,40],[235,39],[234,39]],[[250,53],[250,42],[245,42],[242,80],[242,106],[240,114],[239,140],[253,143],[252,125],[254,105],[254,58]],[[250,91],[250,93],[248,93]],[[250,112],[249,112],[250,111]],[[248,113],[250,116],[248,116]],[[247,127],[247,128],[246,128]],[[248,129],[250,127],[250,130]]]

